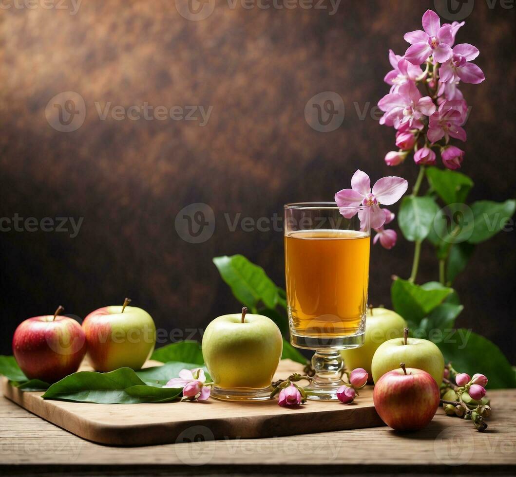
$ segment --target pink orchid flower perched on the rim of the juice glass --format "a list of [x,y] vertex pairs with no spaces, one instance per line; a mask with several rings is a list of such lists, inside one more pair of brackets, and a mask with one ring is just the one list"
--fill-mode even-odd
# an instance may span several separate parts
[[[380,228],[385,223],[385,213],[380,209],[382,205],[395,204],[407,192],[408,182],[402,177],[387,176],[378,179],[371,189],[369,176],[358,169],[351,177],[351,189],[342,189],[335,194],[338,207],[370,207],[370,226]],[[360,222],[366,217],[367,209],[341,210],[346,218],[353,217],[358,212]]]

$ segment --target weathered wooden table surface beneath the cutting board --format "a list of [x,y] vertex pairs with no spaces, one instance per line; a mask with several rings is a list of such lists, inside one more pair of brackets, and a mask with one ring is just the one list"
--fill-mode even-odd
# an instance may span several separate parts
[[[372,427],[131,448],[106,447],[83,440],[0,397],[0,473],[513,475],[516,390],[490,391],[489,395],[493,415],[485,433],[475,431],[471,421],[445,416],[439,409],[426,429],[409,434]],[[202,435],[202,431],[196,430],[195,434]]]

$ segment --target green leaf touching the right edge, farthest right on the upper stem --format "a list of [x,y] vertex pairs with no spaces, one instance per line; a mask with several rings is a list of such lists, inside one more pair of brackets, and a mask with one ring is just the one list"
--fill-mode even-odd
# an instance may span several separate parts
[[471,205],[474,217],[474,228],[470,243],[480,243],[500,232],[506,222],[513,216],[516,201],[505,202],[478,201]]

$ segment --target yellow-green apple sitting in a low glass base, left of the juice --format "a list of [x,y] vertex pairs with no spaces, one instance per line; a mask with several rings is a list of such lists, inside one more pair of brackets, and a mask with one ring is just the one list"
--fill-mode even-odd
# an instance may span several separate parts
[[276,323],[246,311],[215,318],[202,337],[204,362],[222,389],[270,386],[281,359],[283,339]]

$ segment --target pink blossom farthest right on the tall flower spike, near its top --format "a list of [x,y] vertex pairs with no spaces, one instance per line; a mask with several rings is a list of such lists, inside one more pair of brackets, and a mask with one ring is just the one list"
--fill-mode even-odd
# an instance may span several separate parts
[[459,80],[464,83],[478,85],[486,79],[482,70],[476,64],[469,63],[479,54],[478,48],[469,43],[461,43],[454,46],[453,55],[439,68],[439,76],[443,83]]

